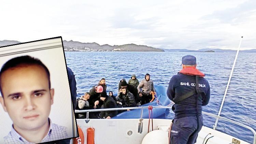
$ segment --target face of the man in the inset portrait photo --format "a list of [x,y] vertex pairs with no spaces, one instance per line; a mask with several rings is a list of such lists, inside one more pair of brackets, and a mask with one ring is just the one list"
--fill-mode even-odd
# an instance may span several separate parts
[[0,102],[16,130],[38,130],[48,124],[54,89],[43,67],[17,67],[2,73]]

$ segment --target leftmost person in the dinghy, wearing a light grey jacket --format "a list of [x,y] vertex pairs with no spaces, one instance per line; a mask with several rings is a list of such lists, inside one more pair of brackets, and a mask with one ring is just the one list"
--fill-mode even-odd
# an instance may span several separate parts
[[91,109],[89,100],[90,99],[90,93],[85,92],[83,96],[76,102],[76,110],[86,110],[86,109]]

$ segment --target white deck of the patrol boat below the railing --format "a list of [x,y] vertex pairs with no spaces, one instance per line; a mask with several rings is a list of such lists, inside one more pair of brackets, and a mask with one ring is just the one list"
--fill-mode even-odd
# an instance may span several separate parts
[[[143,120],[142,133],[138,133],[139,119],[90,119],[89,123],[85,123],[84,119],[76,119],[76,121],[84,132],[85,144],[89,127],[95,128],[95,144],[141,144],[148,129],[148,119]],[[168,131],[170,123],[170,119],[153,119],[153,130]],[[132,134],[128,135],[128,131],[132,131]],[[168,135],[166,136],[168,138]],[[211,136],[213,137],[210,138]],[[210,139],[207,141],[208,138]],[[197,144],[205,144],[206,141],[207,144],[231,144],[233,138],[233,136],[203,126],[199,132]],[[240,139],[234,139],[239,140],[240,144],[248,144]]]

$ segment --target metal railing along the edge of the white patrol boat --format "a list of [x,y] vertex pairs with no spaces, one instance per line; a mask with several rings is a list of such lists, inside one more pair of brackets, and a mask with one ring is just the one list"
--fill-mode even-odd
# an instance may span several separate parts
[[[86,112],[86,120],[89,120],[89,112],[101,112],[101,111],[118,111],[118,110],[134,110],[134,109],[141,109],[141,114],[140,114],[140,120],[142,119],[142,114],[143,114],[143,109],[147,109],[148,107],[147,106],[140,106],[140,107],[122,107],[122,108],[110,108],[110,109],[92,109],[92,110],[75,110],[75,113],[85,113]],[[154,109],[171,109],[170,106],[154,106],[153,107]],[[238,123],[236,121],[233,121],[233,120],[230,120],[228,118],[225,118],[225,117],[221,117],[221,116],[217,116],[217,115],[214,115],[214,114],[210,114],[210,113],[207,113],[207,112],[202,112],[203,114],[206,114],[206,115],[209,115],[209,116],[213,116],[213,117],[216,117],[216,118],[221,118],[221,119],[224,119],[224,120],[227,120],[229,121],[230,123],[233,123],[233,124],[236,124],[236,125],[239,125],[241,127],[244,127],[246,129],[249,129],[252,131],[253,135],[254,135],[254,138],[253,138],[253,144],[256,144],[256,131],[249,127],[249,126],[246,126],[244,124],[241,124],[241,123]]]

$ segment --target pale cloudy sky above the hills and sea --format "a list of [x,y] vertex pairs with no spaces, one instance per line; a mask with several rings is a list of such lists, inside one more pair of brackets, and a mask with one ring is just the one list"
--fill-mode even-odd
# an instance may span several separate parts
[[0,14],[0,41],[237,49],[243,36],[241,50],[256,48],[255,0],[8,0]]

